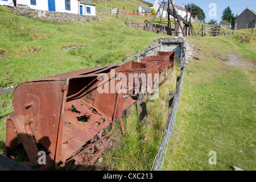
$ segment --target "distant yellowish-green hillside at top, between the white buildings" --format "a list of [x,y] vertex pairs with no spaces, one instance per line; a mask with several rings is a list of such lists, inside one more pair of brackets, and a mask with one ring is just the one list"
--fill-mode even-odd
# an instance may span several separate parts
[[[96,5],[96,7],[105,8],[105,0],[93,0],[93,3]],[[146,1],[142,0],[127,0],[127,1],[119,1],[119,0],[108,0],[107,1],[107,8],[110,6],[113,6],[114,8],[118,8],[120,10],[123,10],[123,7],[125,7],[125,11],[133,11],[139,9],[139,6],[151,6],[152,3],[148,3]]]

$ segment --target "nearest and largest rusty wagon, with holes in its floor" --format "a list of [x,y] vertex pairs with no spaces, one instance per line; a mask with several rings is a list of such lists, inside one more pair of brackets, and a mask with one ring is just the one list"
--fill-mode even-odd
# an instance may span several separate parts
[[[49,161],[64,163],[86,142],[122,117],[122,93],[98,93],[99,73],[109,67],[42,78],[20,84],[14,92],[14,113],[6,123],[6,152],[16,147],[17,134],[28,159],[37,162],[42,144]],[[109,77],[118,87],[116,75]],[[121,85],[121,84],[119,84]],[[110,89],[110,88],[109,88]]]

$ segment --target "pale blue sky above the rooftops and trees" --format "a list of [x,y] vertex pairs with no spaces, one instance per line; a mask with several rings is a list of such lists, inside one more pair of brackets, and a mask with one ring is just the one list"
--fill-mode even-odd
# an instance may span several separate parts
[[[152,3],[152,1],[155,1],[155,0],[144,0],[144,1]],[[163,0],[158,0],[158,2],[162,2],[162,1]],[[166,0],[166,2],[168,2],[168,0]],[[205,18],[206,22],[208,22],[210,19],[215,19],[217,20],[217,22],[220,22],[222,12],[228,6],[230,7],[230,9],[232,10],[232,13],[235,16],[237,14],[239,15],[240,13],[242,13],[242,11],[246,9],[246,7],[248,7],[248,9],[256,11],[255,0],[232,0],[232,1],[230,0],[174,0],[174,3],[176,5],[181,5],[183,3],[185,3],[185,5],[187,5],[188,3],[195,3],[195,5],[201,7],[201,9],[204,10],[204,13],[206,16]],[[209,7],[210,3],[216,4],[216,7],[217,7],[216,16],[209,16],[209,11],[211,9]]]

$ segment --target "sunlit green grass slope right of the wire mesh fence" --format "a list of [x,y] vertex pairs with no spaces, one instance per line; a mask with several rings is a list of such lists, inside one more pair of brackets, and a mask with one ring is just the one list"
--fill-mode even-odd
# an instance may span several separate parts
[[[233,53],[244,61],[256,61],[255,35],[247,39],[241,42],[238,35],[189,38],[203,51],[197,50],[197,59],[185,69],[173,170],[256,169],[255,67],[230,67],[214,57],[219,54],[225,59],[226,53]],[[216,165],[208,163],[210,151],[216,151]]]

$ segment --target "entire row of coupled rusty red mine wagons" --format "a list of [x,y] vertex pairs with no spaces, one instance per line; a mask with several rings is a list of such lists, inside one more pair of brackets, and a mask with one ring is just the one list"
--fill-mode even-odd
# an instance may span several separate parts
[[[86,68],[20,84],[13,94],[14,113],[6,121],[5,155],[17,147],[19,136],[30,160],[26,166],[38,165],[39,145],[47,152],[42,170],[67,167],[74,160],[93,164],[113,137],[108,138],[116,119],[124,134],[122,116],[138,100],[142,76],[153,87],[159,72],[170,67],[175,52],[165,54],[145,57],[142,63]],[[127,92],[120,92],[123,89]]]

